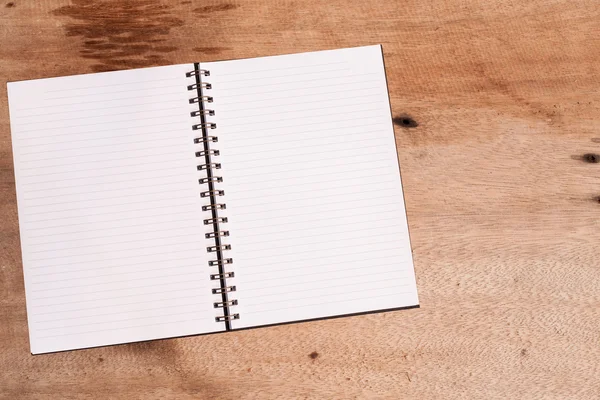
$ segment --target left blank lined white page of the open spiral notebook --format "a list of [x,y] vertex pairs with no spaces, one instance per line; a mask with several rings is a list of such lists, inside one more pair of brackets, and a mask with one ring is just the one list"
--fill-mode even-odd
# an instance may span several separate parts
[[8,84],[32,353],[223,330],[191,69]]

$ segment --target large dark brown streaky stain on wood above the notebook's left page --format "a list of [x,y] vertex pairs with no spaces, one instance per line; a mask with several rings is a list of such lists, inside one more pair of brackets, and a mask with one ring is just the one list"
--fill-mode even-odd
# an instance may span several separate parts
[[81,57],[95,60],[96,72],[170,64],[166,44],[172,28],[183,26],[177,10],[153,0],[73,0],[53,15],[69,17],[67,36],[81,37]]

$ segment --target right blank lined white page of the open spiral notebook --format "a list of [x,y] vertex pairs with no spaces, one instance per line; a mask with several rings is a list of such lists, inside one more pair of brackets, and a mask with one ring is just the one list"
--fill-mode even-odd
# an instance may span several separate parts
[[234,328],[418,304],[380,46],[205,63]]

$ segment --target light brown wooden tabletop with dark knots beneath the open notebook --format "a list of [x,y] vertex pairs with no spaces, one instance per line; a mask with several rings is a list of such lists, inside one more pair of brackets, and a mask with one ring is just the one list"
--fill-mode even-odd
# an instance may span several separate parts
[[383,44],[421,308],[31,356],[0,92],[0,398],[600,398],[597,0],[3,0],[0,79]]

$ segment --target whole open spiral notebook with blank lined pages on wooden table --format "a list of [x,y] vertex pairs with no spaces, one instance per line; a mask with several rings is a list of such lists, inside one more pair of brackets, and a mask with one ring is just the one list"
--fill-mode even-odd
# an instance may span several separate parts
[[418,306],[380,46],[8,92],[32,353]]

